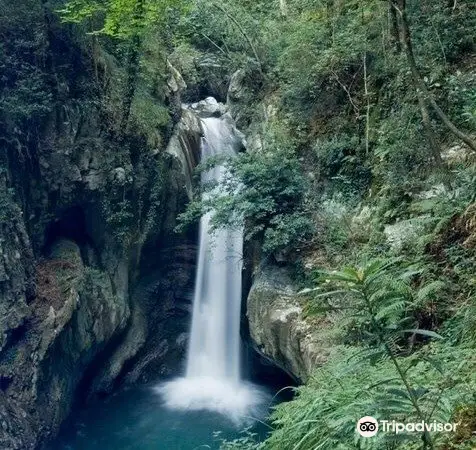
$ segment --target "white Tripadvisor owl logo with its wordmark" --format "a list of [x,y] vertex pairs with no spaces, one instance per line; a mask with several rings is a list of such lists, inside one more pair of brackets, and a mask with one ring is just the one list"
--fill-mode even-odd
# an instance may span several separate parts
[[[457,423],[439,423],[433,422],[409,422],[402,423],[395,420],[381,420],[380,429],[387,433],[418,433],[418,432],[455,432]],[[372,437],[378,433],[379,422],[371,416],[362,417],[357,422],[357,433],[362,437]]]

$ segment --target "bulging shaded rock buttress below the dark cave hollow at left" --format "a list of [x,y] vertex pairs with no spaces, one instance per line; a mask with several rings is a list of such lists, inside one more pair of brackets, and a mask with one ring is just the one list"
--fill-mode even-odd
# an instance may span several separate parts
[[[8,349],[14,363],[7,351],[0,354],[1,376],[11,380],[3,402],[16,411],[0,430],[0,443],[10,442],[2,448],[35,448],[38,437],[59,428],[88,365],[129,315],[127,297],[115,294],[107,274],[84,266],[75,242],[54,242],[36,266],[36,297]],[[23,410],[25,423],[11,423]]]

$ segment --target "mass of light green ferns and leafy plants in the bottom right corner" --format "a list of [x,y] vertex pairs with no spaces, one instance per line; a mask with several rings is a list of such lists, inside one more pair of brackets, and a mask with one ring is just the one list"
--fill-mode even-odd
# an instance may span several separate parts
[[[417,340],[441,338],[433,331],[414,328],[412,311],[441,287],[434,282],[415,291],[409,281],[418,272],[386,260],[322,274],[314,313],[340,311],[352,319],[353,334],[342,329],[348,323],[345,320],[339,319],[336,326],[352,338],[331,349],[325,366],[297,389],[293,401],[276,408],[275,430],[254,448],[470,448],[467,441],[443,433],[399,437],[379,433],[363,439],[355,431],[357,420],[366,415],[378,420],[446,423],[456,421],[460,408],[475,405],[476,360],[471,347],[441,341],[412,353],[404,339],[409,335]],[[464,423],[472,426],[467,418],[460,425]]]

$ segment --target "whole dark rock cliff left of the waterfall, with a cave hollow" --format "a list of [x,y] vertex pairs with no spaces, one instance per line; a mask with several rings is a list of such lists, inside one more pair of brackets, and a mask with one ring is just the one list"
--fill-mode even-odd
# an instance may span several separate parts
[[[194,236],[174,228],[196,160],[166,152],[166,130],[118,137],[117,111],[87,88],[84,52],[60,24],[43,36],[37,6],[35,42],[64,39],[70,51],[45,68],[62,86],[51,109],[25,129],[0,118],[2,450],[42,448],[75,402],[176,372],[193,288]],[[168,104],[180,106],[170,71]],[[192,154],[199,138],[188,136]]]

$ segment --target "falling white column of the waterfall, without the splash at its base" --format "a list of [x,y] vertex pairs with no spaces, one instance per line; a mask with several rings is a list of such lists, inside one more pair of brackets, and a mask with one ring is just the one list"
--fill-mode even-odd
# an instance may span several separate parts
[[[222,120],[204,119],[203,128],[202,161],[234,153],[236,138],[231,138]],[[224,168],[216,166],[202,175],[202,183],[220,183],[224,176]],[[214,194],[220,195],[219,189]],[[212,234],[212,215],[210,212],[200,221],[187,377],[238,382],[243,232],[227,228]]]

